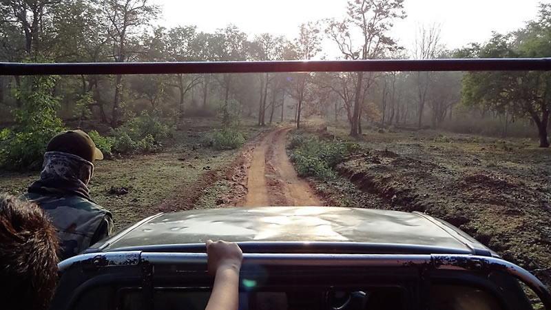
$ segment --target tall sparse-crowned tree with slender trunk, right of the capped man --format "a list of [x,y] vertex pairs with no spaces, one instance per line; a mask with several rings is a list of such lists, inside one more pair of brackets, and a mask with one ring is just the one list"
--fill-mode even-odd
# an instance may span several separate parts
[[[138,32],[156,19],[160,8],[149,4],[147,0],[101,0],[103,27],[111,37],[112,59],[122,63],[133,59],[138,52],[136,41]],[[111,126],[117,127],[119,121],[119,106],[123,101],[123,76],[115,76],[115,94]]]

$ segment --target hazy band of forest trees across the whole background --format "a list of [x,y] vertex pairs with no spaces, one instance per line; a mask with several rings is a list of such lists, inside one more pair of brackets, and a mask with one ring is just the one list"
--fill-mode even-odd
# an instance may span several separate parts
[[[214,33],[185,24],[163,28],[156,23],[161,8],[147,0],[6,0],[0,4],[0,61],[327,59],[324,44],[337,47],[337,59],[344,60],[522,58],[551,51],[549,4],[542,3],[524,28],[455,50],[441,44],[437,24],[419,25],[414,46],[397,45],[388,32],[406,18],[403,8],[403,0],[349,1],[344,19],[307,21],[296,37],[286,38],[247,34],[231,24]],[[370,124],[538,137],[539,146],[548,147],[550,81],[547,72],[1,76],[0,122],[6,128],[0,162],[28,167],[64,121],[99,121],[112,128],[108,136],[115,143],[134,138],[147,149],[158,133],[135,134],[136,122],[157,122],[163,132],[162,125],[187,116],[218,116],[227,127],[242,118],[260,126],[289,118],[298,128],[303,118],[320,116],[346,121],[351,136]]]

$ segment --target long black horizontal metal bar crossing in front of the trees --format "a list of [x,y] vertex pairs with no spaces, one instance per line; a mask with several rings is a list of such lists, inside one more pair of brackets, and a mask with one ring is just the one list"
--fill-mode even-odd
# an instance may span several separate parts
[[254,72],[548,71],[550,58],[180,63],[0,63],[0,75]]

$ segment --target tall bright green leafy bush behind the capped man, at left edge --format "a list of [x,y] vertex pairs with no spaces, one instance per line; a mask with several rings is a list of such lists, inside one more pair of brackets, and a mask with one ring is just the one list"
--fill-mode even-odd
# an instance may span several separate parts
[[21,107],[12,112],[17,125],[0,132],[0,165],[40,169],[46,145],[65,128],[56,115],[59,98],[52,95],[54,76],[33,76],[16,90]]

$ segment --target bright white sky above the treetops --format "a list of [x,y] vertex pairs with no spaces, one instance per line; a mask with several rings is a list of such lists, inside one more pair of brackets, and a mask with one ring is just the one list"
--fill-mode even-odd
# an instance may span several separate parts
[[[269,32],[292,39],[306,21],[346,14],[347,0],[151,0],[163,7],[160,25],[197,25],[214,32],[229,23],[249,35]],[[406,49],[413,48],[419,25],[439,24],[441,43],[460,48],[487,41],[492,31],[510,32],[537,16],[538,3],[545,0],[405,0],[408,17],[395,22],[391,34]],[[549,1],[549,0],[547,0]],[[334,44],[333,44],[334,45]],[[331,42],[323,45],[330,58]]]

